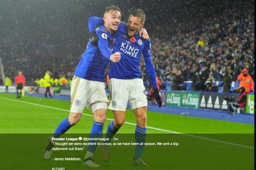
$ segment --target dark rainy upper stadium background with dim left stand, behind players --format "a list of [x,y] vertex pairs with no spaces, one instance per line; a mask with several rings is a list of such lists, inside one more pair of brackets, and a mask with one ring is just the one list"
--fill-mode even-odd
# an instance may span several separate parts
[[[72,71],[86,49],[89,39],[88,18],[101,17],[107,5],[119,6],[123,12],[121,20],[124,22],[127,22],[132,10],[142,8],[146,12],[144,27],[148,34],[152,38],[158,37],[166,41],[179,31],[188,33],[193,30],[195,34],[200,35],[203,29],[208,29],[202,27],[203,23],[209,18],[218,18],[230,9],[236,9],[238,13],[234,17],[239,18],[241,17],[239,11],[254,7],[254,2],[248,0],[1,0],[0,43],[1,57],[7,67],[5,74],[12,77],[13,81],[17,70],[21,70],[30,82],[41,78],[45,71],[50,70],[52,76],[56,78],[63,74],[66,78],[71,78]],[[37,49],[39,54],[35,54]],[[31,56],[22,57],[23,59],[20,60],[25,61],[19,62],[18,58],[23,53],[26,55],[29,53]],[[18,61],[14,62],[14,60]]]

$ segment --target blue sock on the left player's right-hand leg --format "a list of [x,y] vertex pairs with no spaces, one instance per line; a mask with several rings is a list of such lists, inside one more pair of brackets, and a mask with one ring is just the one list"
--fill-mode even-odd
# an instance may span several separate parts
[[[103,131],[103,125],[104,123],[101,122],[93,122],[93,128],[91,128],[91,133],[89,138],[98,138],[102,136],[102,131]],[[98,142],[98,140],[90,140],[90,142]],[[94,153],[96,150],[97,145],[89,145],[87,151]]]

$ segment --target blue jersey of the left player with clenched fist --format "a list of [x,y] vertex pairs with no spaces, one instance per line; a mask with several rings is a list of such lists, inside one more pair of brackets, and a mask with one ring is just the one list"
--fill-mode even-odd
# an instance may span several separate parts
[[94,46],[89,41],[74,75],[86,80],[104,82],[104,73],[113,54],[114,38],[105,26],[98,27],[96,33],[99,46]]

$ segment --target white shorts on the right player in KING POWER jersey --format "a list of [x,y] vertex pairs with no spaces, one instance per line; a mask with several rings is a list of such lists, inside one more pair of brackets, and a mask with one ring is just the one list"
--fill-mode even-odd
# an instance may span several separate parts
[[108,109],[125,111],[127,103],[134,110],[147,106],[146,90],[142,79],[109,79]]

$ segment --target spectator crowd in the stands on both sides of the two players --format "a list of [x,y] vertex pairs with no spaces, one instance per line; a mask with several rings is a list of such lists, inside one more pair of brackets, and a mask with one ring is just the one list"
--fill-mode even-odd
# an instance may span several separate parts
[[[172,90],[178,90],[177,84],[184,81],[192,81],[193,90],[198,91],[204,90],[203,84],[207,80],[223,83],[227,82],[226,79],[236,81],[244,68],[254,80],[252,4],[245,4],[243,8],[239,5],[227,7],[221,14],[201,18],[197,23],[177,24],[176,32],[172,28],[156,26],[156,31],[150,35],[155,71],[161,82],[171,82]],[[54,31],[54,28],[49,29]],[[89,35],[85,35],[89,39],[86,36]],[[55,28],[54,36],[34,32],[12,33],[0,38],[4,73],[12,81],[18,70],[23,72],[27,82],[44,77],[48,70],[52,78],[70,80],[86,49],[84,39],[74,37],[68,31],[59,32],[58,28]],[[144,82],[149,83],[143,57],[140,70]]]

